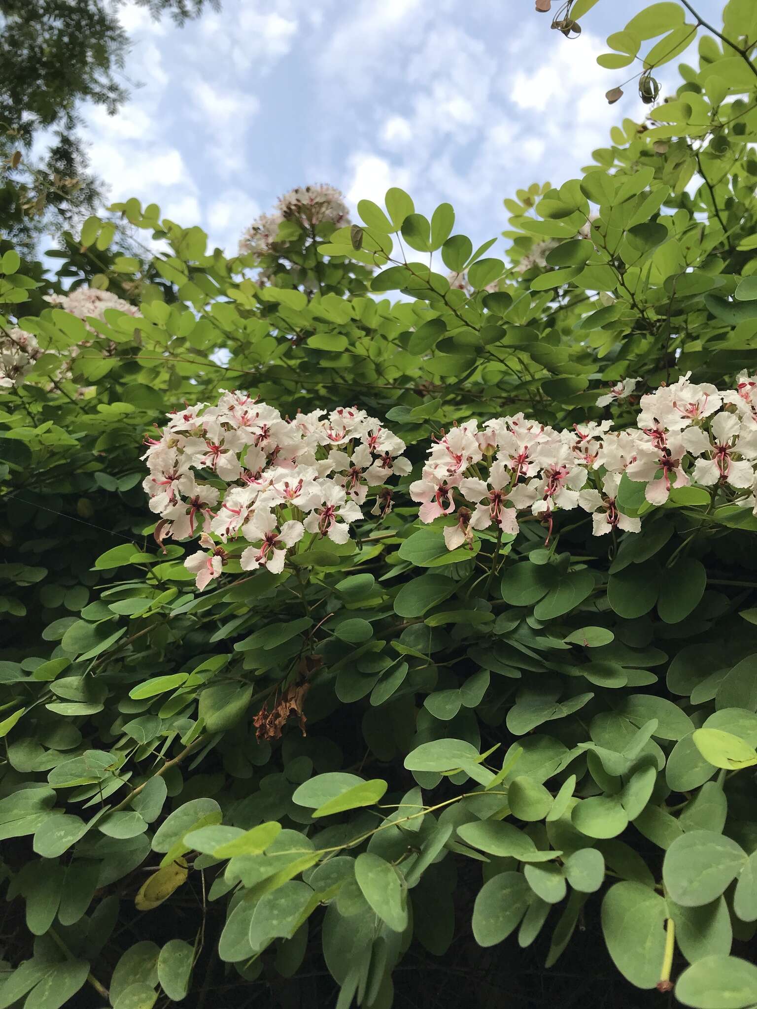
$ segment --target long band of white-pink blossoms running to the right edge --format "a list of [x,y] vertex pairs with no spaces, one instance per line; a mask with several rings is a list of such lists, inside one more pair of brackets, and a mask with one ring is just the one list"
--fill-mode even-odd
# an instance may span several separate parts
[[550,533],[553,514],[575,508],[591,513],[596,536],[638,533],[639,519],[616,503],[624,473],[646,484],[650,504],[694,482],[723,488],[757,515],[757,375],[742,373],[725,393],[688,377],[643,396],[637,426],[625,431],[611,431],[612,421],[556,431],[523,414],[486,421],[482,430],[475,420],[453,427],[434,441],[422,478],[410,485],[421,522],[454,516],[444,528],[449,550],[493,525],[516,535],[524,512]]

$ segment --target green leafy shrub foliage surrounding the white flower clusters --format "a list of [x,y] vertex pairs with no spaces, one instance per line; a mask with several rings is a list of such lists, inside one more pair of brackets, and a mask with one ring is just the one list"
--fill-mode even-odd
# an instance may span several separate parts
[[[653,95],[688,6],[601,59],[641,49]],[[455,422],[624,429],[609,385],[755,370],[754,4],[719,31],[580,179],[506,201],[516,266],[399,190],[353,227],[284,220],[262,258],[133,200],[166,254],[95,217],[52,281],[5,251],[0,324],[43,352],[0,405],[0,1007],[757,1005],[751,511],[624,483],[639,534],[573,512],[449,553],[406,493]],[[72,285],[140,316],[87,329],[43,300]],[[139,441],[235,387],[386,418],[414,473],[348,544],[197,593]],[[307,736],[258,738],[304,684]]]

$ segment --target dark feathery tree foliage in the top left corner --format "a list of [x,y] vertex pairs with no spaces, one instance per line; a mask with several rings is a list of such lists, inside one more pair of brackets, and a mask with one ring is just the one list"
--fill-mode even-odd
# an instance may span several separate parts
[[[139,0],[182,23],[204,0]],[[40,236],[102,204],[77,135],[85,102],[111,114],[126,98],[128,35],[110,0],[0,0],[0,235],[30,253]],[[217,3],[212,4],[218,8]],[[35,138],[51,131],[43,155]]]

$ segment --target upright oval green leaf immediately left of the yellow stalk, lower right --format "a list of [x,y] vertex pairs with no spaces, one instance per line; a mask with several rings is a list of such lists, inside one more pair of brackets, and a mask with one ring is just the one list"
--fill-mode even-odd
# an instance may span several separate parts
[[613,963],[637,988],[660,980],[665,956],[665,900],[641,883],[616,883],[602,902],[602,930]]

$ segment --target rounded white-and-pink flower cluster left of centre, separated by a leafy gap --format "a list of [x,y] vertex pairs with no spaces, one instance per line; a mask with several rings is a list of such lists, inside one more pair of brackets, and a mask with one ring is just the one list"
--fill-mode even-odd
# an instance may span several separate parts
[[[142,485],[160,516],[158,541],[201,534],[203,550],[186,561],[200,589],[220,575],[240,537],[250,544],[242,570],[274,573],[306,533],[346,543],[368,488],[411,470],[405,443],[356,407],[290,420],[246,393],[224,390],[217,406],[169,416],[161,437],[148,440]],[[391,507],[385,488],[371,514]]]

